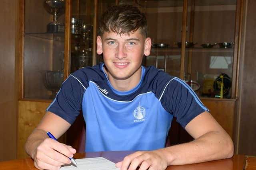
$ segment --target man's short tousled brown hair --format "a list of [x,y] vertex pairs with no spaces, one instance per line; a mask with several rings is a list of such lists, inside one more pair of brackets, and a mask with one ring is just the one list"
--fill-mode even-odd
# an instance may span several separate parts
[[98,35],[104,32],[130,34],[140,29],[142,35],[147,36],[146,16],[132,5],[112,6],[106,10],[100,19]]

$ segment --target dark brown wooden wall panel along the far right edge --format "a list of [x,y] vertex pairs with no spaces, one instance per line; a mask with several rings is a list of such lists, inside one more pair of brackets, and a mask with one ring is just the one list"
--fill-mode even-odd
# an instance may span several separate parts
[[239,78],[238,153],[256,156],[256,1],[246,0]]

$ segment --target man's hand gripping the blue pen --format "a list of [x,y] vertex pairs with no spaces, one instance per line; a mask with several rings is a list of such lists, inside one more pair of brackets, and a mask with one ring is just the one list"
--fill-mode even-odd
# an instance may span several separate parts
[[76,149],[59,143],[54,139],[45,139],[32,154],[34,165],[38,169],[58,170],[64,164],[70,164]]

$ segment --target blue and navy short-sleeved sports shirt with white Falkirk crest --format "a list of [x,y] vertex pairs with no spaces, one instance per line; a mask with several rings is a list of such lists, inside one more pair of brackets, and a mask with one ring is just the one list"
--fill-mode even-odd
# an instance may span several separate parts
[[82,109],[86,152],[163,148],[173,116],[185,127],[208,111],[186,83],[154,66],[142,66],[139,84],[126,92],[111,86],[103,66],[72,73],[47,109],[70,124]]

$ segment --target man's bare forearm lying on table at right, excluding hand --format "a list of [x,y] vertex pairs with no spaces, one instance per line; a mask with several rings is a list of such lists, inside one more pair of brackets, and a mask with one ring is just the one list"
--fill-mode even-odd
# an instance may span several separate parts
[[234,145],[227,133],[209,132],[194,141],[162,151],[169,165],[181,165],[230,158],[234,153]]

